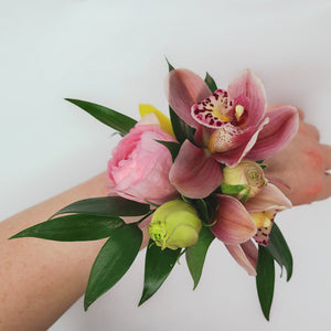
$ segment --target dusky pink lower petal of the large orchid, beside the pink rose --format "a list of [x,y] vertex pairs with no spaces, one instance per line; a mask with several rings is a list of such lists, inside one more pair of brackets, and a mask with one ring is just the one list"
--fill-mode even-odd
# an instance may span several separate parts
[[170,169],[169,179],[181,194],[202,199],[221,185],[222,169],[204,149],[185,140]]

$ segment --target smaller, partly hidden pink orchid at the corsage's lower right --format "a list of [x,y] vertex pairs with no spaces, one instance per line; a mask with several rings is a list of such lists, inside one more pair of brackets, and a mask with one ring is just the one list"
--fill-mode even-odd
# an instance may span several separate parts
[[249,275],[256,275],[257,248],[269,243],[269,235],[277,212],[291,207],[291,202],[273,184],[242,203],[233,196],[217,194],[217,211],[212,233],[225,244],[234,259]]

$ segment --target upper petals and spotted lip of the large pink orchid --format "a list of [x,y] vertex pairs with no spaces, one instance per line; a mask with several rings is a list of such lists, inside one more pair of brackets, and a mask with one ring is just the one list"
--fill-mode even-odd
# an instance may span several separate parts
[[260,160],[273,156],[298,129],[295,107],[286,105],[266,113],[264,85],[249,70],[227,90],[214,93],[193,72],[173,70],[166,89],[171,108],[196,129],[195,143],[229,167],[244,157]]

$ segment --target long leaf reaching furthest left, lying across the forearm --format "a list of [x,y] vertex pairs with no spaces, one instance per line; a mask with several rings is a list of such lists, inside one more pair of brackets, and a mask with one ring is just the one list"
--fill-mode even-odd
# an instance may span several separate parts
[[109,235],[125,223],[119,217],[92,216],[84,214],[53,218],[12,236],[12,238],[35,237],[60,242],[97,241]]

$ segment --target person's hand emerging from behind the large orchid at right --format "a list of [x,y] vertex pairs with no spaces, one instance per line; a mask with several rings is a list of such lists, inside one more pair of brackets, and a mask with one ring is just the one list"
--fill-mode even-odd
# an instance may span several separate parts
[[[270,105],[269,109],[279,105]],[[274,157],[266,159],[266,177],[293,205],[311,203],[331,195],[331,146],[320,143],[318,129],[303,121],[298,109],[299,130],[292,141]]]

